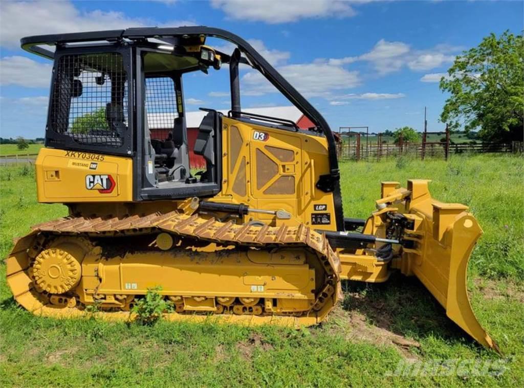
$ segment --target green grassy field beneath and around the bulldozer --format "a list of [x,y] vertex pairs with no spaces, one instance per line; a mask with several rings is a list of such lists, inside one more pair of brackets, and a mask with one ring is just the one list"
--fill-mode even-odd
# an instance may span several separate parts
[[[504,355],[485,350],[449,321],[417,279],[344,283],[328,322],[302,330],[160,321],[152,327],[55,320],[16,306],[0,265],[2,386],[522,386],[524,385],[524,171],[521,157],[453,156],[344,163],[344,213],[366,217],[381,180],[433,179],[435,198],[466,203],[484,229],[472,255],[473,308]],[[60,217],[36,203],[34,172],[0,167],[0,252],[29,225]],[[494,373],[392,373],[399,361],[499,362]],[[464,371],[464,369],[462,370]],[[393,375],[391,375],[393,374]]]

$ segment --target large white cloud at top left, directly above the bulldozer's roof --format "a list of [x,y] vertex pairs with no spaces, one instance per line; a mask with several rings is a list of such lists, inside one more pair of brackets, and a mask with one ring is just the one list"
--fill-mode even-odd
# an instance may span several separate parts
[[[0,2],[2,24],[0,45],[17,48],[20,38],[30,35],[75,33],[79,31],[111,30],[128,27],[155,25],[147,18],[129,18],[122,12],[87,12],[79,10],[69,1],[59,2]],[[187,20],[171,20],[159,27],[192,25]]]

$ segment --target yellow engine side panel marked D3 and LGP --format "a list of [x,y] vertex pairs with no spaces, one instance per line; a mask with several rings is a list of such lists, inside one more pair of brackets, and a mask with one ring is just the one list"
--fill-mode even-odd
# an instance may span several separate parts
[[[319,177],[329,173],[325,137],[223,117],[222,149],[222,191],[213,201],[281,209],[293,216],[275,220],[274,215],[252,213],[250,220],[336,230],[333,194],[315,188]],[[312,214],[329,222],[312,224]]]

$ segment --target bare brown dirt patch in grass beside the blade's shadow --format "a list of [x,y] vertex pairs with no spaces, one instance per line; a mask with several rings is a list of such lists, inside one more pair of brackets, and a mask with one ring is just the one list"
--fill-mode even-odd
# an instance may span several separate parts
[[[376,325],[370,324],[362,312],[356,310],[345,311],[340,306],[335,307],[330,313],[329,321],[332,320],[337,322],[331,330],[339,333],[342,331],[344,337],[352,342],[364,341],[378,346],[395,346],[406,358],[413,358],[413,348],[420,348],[419,342],[385,328],[388,327],[389,323],[385,309],[382,316],[374,317]],[[340,325],[341,322],[343,322],[342,325]]]

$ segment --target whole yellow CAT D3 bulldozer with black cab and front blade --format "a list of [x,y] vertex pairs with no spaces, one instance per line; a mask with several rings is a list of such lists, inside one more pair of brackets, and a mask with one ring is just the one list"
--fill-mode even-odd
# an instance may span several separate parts
[[[344,279],[379,283],[400,271],[496,349],[467,296],[482,234],[467,207],[433,199],[428,180],[388,181],[368,219],[344,218],[328,123],[244,39],[129,28],[31,36],[21,47],[53,60],[38,201],[69,209],[32,227],[7,258],[7,283],[27,310],[79,317],[96,306],[133,319],[157,287],[174,306],[169,320],[309,326],[328,316]],[[201,108],[189,141],[182,81],[223,68],[231,109]],[[239,68],[265,78],[311,127],[243,110]]]

